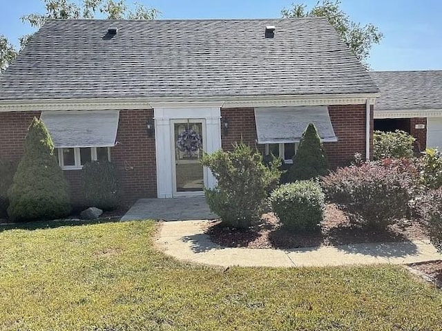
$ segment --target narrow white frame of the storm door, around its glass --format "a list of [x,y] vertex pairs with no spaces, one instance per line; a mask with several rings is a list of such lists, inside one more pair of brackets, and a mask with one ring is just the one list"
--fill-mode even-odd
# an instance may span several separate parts
[[[192,123],[201,123],[202,127],[202,148],[206,151],[206,120],[204,118],[181,118],[170,120],[171,124],[171,155],[172,155],[172,183],[173,183],[173,198],[178,198],[182,196],[204,196],[204,189],[201,191],[181,191],[177,190],[177,160],[175,151],[175,125],[176,123],[186,123],[187,121]],[[207,168],[202,169],[203,183],[204,187],[207,187]]]

